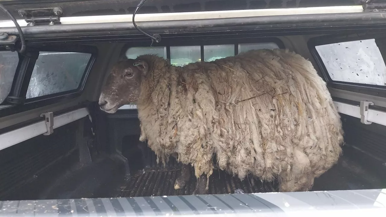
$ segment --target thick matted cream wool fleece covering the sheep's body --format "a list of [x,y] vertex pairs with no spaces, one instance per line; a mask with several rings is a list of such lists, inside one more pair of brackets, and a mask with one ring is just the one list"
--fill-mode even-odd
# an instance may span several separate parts
[[176,156],[196,177],[217,166],[244,178],[309,190],[342,151],[343,131],[325,82],[288,50],[258,50],[213,62],[149,64],[137,102],[141,141],[158,160]]

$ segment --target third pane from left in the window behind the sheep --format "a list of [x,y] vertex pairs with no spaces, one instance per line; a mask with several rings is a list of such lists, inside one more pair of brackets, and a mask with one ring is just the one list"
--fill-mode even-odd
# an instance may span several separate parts
[[204,46],[204,61],[210,62],[216,59],[225,58],[227,56],[235,56],[234,44],[222,45],[205,45]]

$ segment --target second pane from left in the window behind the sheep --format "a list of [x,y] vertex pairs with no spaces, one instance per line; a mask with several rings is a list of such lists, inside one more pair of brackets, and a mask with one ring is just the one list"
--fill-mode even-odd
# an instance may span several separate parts
[[183,66],[201,61],[201,46],[170,47],[170,64]]

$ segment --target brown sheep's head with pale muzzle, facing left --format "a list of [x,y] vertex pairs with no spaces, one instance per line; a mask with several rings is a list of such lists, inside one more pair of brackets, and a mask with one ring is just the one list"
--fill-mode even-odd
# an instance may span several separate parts
[[122,105],[138,100],[142,76],[146,75],[145,61],[127,59],[114,64],[99,97],[100,108],[115,113]]

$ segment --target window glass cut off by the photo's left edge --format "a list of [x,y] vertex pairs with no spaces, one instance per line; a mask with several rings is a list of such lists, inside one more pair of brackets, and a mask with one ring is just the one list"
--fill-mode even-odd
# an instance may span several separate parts
[[0,51],[0,104],[11,91],[18,64],[19,55],[16,52]]

